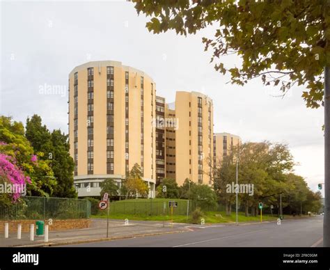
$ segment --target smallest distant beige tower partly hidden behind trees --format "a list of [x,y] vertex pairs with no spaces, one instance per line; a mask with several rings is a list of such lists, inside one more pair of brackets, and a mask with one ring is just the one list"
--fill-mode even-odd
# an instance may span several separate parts
[[214,133],[213,135],[213,161],[216,166],[221,166],[223,157],[230,154],[234,147],[242,144],[239,136],[223,133]]

